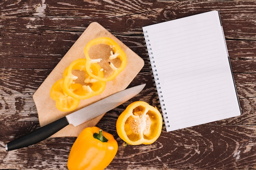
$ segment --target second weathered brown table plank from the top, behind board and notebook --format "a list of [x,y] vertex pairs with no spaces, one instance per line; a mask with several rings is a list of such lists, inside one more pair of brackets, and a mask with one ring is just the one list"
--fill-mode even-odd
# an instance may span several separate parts
[[[0,68],[52,69],[80,35],[80,32],[74,35],[68,31],[51,31],[37,35],[36,32],[31,30],[27,33],[4,30],[2,33],[4,33],[4,36],[0,38],[0,55],[2,56]],[[143,71],[150,71],[143,36],[116,36],[144,59]],[[58,44],[61,44],[61,46]],[[227,40],[227,46],[234,73],[255,72],[255,41]],[[40,62],[39,65],[38,62]],[[245,65],[246,69],[244,68]]]

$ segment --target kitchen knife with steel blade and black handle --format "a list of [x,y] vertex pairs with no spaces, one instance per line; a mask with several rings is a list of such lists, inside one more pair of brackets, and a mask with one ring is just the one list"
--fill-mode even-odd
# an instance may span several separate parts
[[33,144],[36,144],[48,137],[54,135],[65,126],[73,124],[78,126],[86,121],[89,121],[99,115],[102,115],[109,110],[116,108],[117,106],[128,101],[145,87],[146,84],[141,84],[139,86],[134,86],[123,91],[117,92],[113,95],[110,95],[98,102],[95,102],[89,106],[81,108],[69,115],[62,117],[50,124],[47,124],[41,128],[38,128],[27,135],[24,135],[18,139],[10,141],[5,145],[5,150],[15,150],[23,147],[27,147]]

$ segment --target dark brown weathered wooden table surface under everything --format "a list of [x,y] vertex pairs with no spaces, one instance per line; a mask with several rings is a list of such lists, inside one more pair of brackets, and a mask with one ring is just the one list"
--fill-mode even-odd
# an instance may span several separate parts
[[[142,26],[219,10],[242,115],[162,134],[154,144],[122,146],[117,117],[133,101],[158,99]],[[91,22],[99,22],[145,61],[129,86],[146,83],[97,124],[119,144],[106,170],[256,169],[255,0],[0,0],[0,169],[66,170],[75,137],[48,138],[6,152],[8,141],[39,128],[32,95]]]

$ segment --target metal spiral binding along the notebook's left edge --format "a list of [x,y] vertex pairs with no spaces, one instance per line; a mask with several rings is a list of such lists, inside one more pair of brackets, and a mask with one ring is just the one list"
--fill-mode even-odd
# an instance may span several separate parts
[[161,108],[159,111],[162,112],[162,116],[163,116],[163,122],[165,124],[165,128],[166,127],[170,127],[170,125],[168,124],[169,121],[168,121],[168,117],[167,117],[167,113],[166,113],[166,108],[165,108],[165,105],[164,105],[164,99],[163,99],[163,94],[162,94],[162,91],[161,91],[161,86],[160,86],[160,82],[159,82],[159,78],[158,78],[158,74],[157,74],[157,66],[155,65],[155,60],[154,60],[154,56],[153,56],[153,51],[152,51],[152,48],[150,47],[150,40],[149,40],[149,36],[147,35],[148,31],[144,31],[144,38],[145,38],[145,46],[147,47],[147,51],[148,51],[148,60],[149,60],[149,63],[151,65],[151,68],[152,68],[152,77],[155,81],[155,86],[156,86],[156,90],[157,90],[157,99],[158,99],[158,103],[159,103],[159,108]]

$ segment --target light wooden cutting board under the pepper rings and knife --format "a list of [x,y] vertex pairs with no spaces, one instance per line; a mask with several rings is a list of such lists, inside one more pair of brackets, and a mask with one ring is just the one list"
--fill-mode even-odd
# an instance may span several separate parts
[[[119,73],[119,75],[115,79],[107,82],[106,88],[103,93],[94,97],[90,97],[89,99],[81,100],[76,110],[94,102],[97,102],[100,99],[103,99],[109,95],[117,93],[118,91],[126,89],[126,87],[130,84],[130,82],[132,82],[132,80],[144,66],[144,60],[141,57],[139,57],[136,53],[129,49],[124,43],[118,40],[99,23],[92,22],[34,93],[33,99],[38,111],[40,126],[49,124],[52,121],[55,121],[75,111],[73,110],[71,112],[62,112],[58,110],[55,106],[55,101],[50,98],[49,92],[52,85],[58,79],[62,78],[64,69],[69,66],[72,61],[79,58],[85,58],[83,52],[85,44],[87,44],[87,42],[89,42],[90,40],[98,37],[109,37],[115,40],[126,53],[127,65],[124,71]],[[103,116],[104,114],[76,127],[74,127],[73,125],[68,125],[56,134],[54,134],[52,137],[77,137],[84,128],[96,126],[96,124]]]

